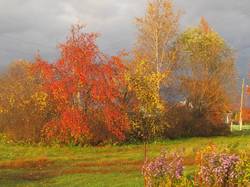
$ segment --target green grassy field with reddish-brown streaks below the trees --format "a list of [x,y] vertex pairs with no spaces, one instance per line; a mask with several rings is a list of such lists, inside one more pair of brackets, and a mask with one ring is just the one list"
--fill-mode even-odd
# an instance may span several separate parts
[[[195,152],[213,143],[219,149],[250,153],[250,126],[234,126],[228,137],[166,140],[149,145],[149,156],[180,151],[185,173],[192,172]],[[143,145],[45,147],[0,142],[0,186],[143,186]]]

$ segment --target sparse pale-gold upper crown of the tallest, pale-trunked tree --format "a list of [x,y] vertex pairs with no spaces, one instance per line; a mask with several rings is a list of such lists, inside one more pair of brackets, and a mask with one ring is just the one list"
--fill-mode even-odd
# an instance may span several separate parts
[[171,71],[176,61],[180,12],[171,0],[151,0],[144,17],[136,19],[135,55],[152,64],[152,71]]

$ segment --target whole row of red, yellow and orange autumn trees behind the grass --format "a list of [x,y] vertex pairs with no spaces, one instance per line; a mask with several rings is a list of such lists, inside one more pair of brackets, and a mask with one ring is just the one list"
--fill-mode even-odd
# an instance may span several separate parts
[[181,16],[171,0],[151,0],[129,53],[104,54],[96,33],[74,25],[55,62],[11,63],[0,133],[76,145],[227,134],[235,52],[204,18],[181,31]]

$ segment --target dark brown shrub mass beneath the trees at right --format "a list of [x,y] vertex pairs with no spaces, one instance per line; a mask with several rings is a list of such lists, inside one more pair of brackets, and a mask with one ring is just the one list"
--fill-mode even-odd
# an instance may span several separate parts
[[230,126],[223,122],[215,122],[211,116],[197,116],[187,106],[176,106],[165,113],[165,137],[179,138],[191,136],[228,135]]

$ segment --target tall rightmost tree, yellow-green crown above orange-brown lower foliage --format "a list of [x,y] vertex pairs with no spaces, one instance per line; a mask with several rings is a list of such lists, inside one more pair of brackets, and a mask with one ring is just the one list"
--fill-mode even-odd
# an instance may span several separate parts
[[183,55],[180,91],[193,117],[189,126],[199,135],[215,133],[210,130],[224,124],[235,90],[234,52],[204,18],[198,27],[182,33],[179,41]]

